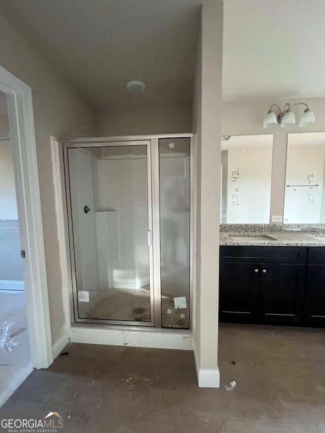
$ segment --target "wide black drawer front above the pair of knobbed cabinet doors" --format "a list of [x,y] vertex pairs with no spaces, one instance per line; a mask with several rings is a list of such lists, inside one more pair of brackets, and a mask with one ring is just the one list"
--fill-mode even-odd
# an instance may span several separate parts
[[[325,253],[325,249],[324,249]],[[221,262],[306,263],[306,247],[220,246]],[[324,256],[325,259],[325,256]]]

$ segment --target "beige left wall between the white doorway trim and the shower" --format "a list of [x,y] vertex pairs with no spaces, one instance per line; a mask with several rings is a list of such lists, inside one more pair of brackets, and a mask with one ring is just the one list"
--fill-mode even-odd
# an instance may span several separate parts
[[[95,118],[92,108],[4,17],[0,26],[0,64],[32,90],[52,339],[55,342],[68,324],[62,303],[50,136],[60,139],[95,135]],[[88,125],[88,129],[81,132],[80,125]]]

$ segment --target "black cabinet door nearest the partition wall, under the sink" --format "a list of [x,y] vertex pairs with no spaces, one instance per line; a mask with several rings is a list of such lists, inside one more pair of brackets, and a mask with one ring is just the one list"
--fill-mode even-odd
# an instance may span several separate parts
[[220,321],[238,323],[256,321],[258,268],[256,263],[220,263]]

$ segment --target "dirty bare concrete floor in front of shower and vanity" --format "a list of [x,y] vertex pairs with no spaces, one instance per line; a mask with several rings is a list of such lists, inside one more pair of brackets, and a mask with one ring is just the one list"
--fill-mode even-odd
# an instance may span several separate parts
[[220,324],[220,389],[198,388],[189,351],[70,344],[2,409],[65,413],[69,433],[323,433],[324,335]]

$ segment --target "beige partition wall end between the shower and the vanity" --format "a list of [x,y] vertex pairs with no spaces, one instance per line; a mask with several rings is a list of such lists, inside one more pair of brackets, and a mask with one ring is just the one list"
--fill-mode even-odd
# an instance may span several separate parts
[[222,2],[204,3],[193,104],[197,134],[197,279],[195,339],[200,369],[217,369]]

